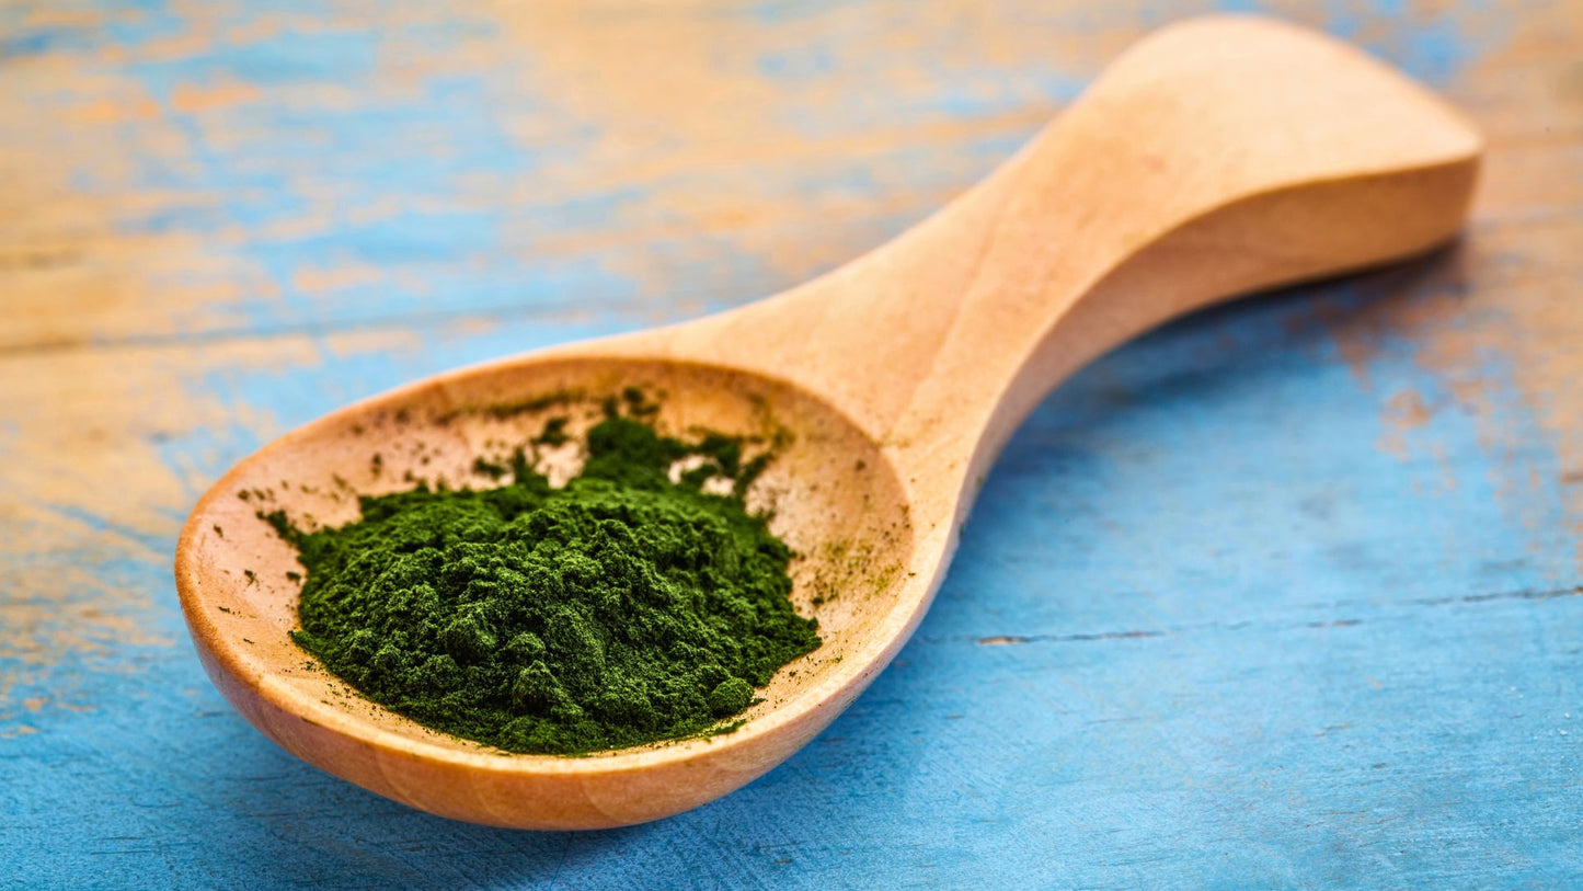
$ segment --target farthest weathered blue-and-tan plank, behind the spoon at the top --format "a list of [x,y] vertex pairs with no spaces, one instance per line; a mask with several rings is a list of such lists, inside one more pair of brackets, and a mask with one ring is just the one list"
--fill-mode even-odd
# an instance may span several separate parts
[[[1536,5],[1518,36],[1466,9],[1369,28],[1290,13],[1460,95],[1447,65],[1471,40],[1526,41],[1523,63],[1564,78],[1567,6]],[[0,348],[720,307],[926,214],[1148,27],[1080,3],[948,3],[896,33],[905,8],[776,28],[708,5],[410,8],[377,40],[358,5],[24,16],[0,89],[17,184],[0,198]],[[1480,65],[1501,87],[1475,111],[1543,111],[1510,101],[1534,78]],[[1528,179],[1550,180],[1566,182]]]

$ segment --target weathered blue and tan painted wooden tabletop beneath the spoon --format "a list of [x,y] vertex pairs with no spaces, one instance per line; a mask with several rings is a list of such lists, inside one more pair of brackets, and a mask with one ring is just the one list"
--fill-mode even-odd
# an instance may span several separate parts
[[1194,5],[0,5],[0,885],[1583,882],[1583,5],[1274,3],[1491,136],[1467,237],[1048,399],[807,750],[592,834],[220,700],[180,519],[274,434],[899,231]]

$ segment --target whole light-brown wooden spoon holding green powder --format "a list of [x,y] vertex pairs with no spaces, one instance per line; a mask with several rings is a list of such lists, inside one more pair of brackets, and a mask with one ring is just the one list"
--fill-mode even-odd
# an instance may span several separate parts
[[[893,242],[687,324],[438,375],[249,457],[176,552],[204,668],[271,739],[413,807],[538,829],[640,823],[776,766],[890,663],[980,481],[1056,383],[1228,296],[1415,255],[1463,222],[1480,135],[1401,74],[1249,17],[1165,28],[986,180]],[[780,432],[752,502],[801,557],[793,600],[825,644],[736,733],[586,758],[507,755],[353,695],[288,631],[301,567],[258,518],[358,516],[413,478],[486,486],[499,454],[638,386],[685,434]],[[575,465],[576,446],[540,454]]]

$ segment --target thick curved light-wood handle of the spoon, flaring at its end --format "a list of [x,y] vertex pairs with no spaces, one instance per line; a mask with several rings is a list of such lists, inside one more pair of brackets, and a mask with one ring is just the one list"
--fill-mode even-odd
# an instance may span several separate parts
[[1480,152],[1460,114],[1353,47],[1197,19],[1132,47],[890,244],[662,339],[790,378],[902,465],[969,480],[1045,392],[1122,340],[1448,239]]

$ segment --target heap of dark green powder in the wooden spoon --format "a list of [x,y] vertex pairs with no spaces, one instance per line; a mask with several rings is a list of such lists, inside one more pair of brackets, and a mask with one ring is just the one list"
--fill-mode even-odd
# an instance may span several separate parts
[[[741,499],[763,462],[614,413],[587,453],[562,489],[519,456],[510,484],[366,497],[339,529],[271,514],[307,568],[298,644],[369,700],[508,752],[730,730],[820,644],[787,600],[788,548]],[[735,494],[703,492],[712,476]]]

